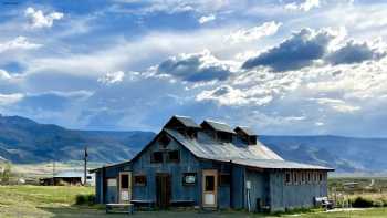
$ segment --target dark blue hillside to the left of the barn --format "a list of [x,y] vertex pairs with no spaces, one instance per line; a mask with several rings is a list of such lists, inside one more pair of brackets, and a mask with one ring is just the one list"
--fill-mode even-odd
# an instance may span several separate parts
[[72,131],[20,116],[0,116],[0,157],[20,164],[80,160],[87,146],[90,160],[114,163],[136,154],[154,135],[137,131]]

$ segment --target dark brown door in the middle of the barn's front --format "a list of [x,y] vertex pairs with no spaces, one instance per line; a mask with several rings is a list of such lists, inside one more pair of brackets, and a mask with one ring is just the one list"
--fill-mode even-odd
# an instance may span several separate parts
[[171,181],[169,174],[156,175],[156,205],[160,209],[166,209],[170,205]]

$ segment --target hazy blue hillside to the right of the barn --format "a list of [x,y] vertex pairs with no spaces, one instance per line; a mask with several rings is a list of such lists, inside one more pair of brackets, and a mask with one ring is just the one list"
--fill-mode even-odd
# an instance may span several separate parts
[[282,157],[332,166],[338,172],[386,172],[387,138],[261,136]]

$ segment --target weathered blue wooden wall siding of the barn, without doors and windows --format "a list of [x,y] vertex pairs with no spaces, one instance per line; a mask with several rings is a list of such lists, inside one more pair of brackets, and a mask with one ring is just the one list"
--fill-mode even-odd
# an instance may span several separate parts
[[[229,186],[218,186],[218,207],[248,209],[245,183],[250,180],[251,209],[257,209],[257,199],[260,198],[263,205],[269,205],[271,210],[284,210],[285,208],[311,207],[313,198],[327,196],[325,183],[286,185],[284,183],[285,172],[282,170],[252,170],[244,166],[232,163],[220,163],[196,158],[187,148],[171,139],[167,150],[179,150],[179,163],[163,164],[150,163],[150,155],[161,150],[159,143],[155,141],[147,149],[143,150],[133,163],[106,167],[96,173],[96,199],[98,203],[108,203],[108,199],[117,200],[117,188],[113,190],[106,185],[107,178],[118,178],[119,172],[132,172],[133,176],[145,175],[146,186],[133,184],[133,199],[156,201],[156,175],[168,173],[171,176],[171,199],[192,200],[200,206],[202,200],[202,177],[203,169],[217,169],[218,174],[230,174]],[[166,158],[166,156],[165,156]],[[196,173],[195,185],[182,185],[184,173]],[[326,172],[323,172],[326,178]],[[118,184],[117,184],[118,185]]]

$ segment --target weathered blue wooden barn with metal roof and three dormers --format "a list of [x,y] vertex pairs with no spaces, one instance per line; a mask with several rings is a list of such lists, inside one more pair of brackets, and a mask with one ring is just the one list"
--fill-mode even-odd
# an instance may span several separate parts
[[327,196],[330,170],[282,159],[247,127],[174,116],[132,160],[92,172],[100,204],[274,211]]

